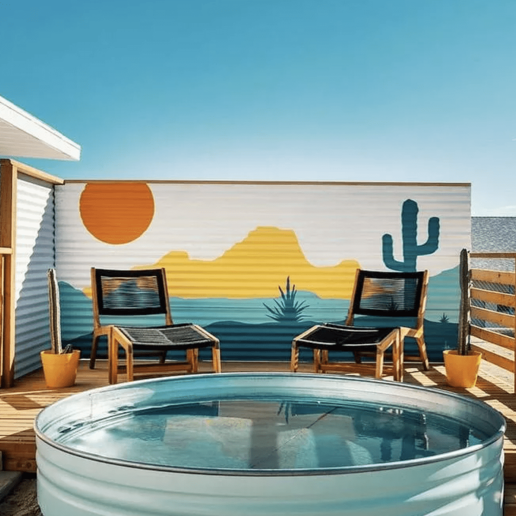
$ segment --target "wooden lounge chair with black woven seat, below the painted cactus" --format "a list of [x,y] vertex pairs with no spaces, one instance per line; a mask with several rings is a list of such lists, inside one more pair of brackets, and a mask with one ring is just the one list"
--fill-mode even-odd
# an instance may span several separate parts
[[[381,378],[387,352],[392,353],[392,373],[397,381],[403,381],[404,360],[421,361],[428,370],[423,335],[427,288],[428,271],[357,269],[345,325],[316,325],[296,336],[292,342],[291,371],[298,369],[300,347],[313,350],[316,373],[329,370],[361,372],[370,369],[368,364],[362,364],[362,357],[368,356],[376,358],[374,376]],[[368,317],[355,318],[356,315]],[[367,319],[372,323],[364,326]],[[405,337],[415,338],[418,356],[404,356]],[[350,351],[354,363],[330,362],[330,351]]]

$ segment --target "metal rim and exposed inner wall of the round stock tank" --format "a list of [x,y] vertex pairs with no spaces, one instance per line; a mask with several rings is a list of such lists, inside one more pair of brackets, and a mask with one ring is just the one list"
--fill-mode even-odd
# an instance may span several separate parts
[[[169,388],[166,389],[167,385]],[[112,392],[124,396],[114,396]],[[353,400],[386,404],[408,410],[428,411],[438,415],[453,417],[460,423],[490,435],[479,444],[466,446],[453,451],[429,457],[421,457],[404,461],[373,463],[328,467],[317,469],[218,469],[207,467],[182,467],[145,462],[134,462],[123,459],[103,457],[88,453],[54,441],[48,435],[50,430],[57,431],[62,424],[74,426],[91,424],[93,421],[109,417],[114,411],[118,414],[132,412],[135,409],[150,408],[134,404],[122,404],[123,400],[134,402],[148,399],[149,392],[158,393],[159,397],[169,403],[210,401],[217,399],[270,399],[306,401],[308,398],[324,399],[324,401]],[[111,394],[111,395],[109,395]],[[172,397],[165,397],[173,394]],[[343,395],[346,397],[343,398]],[[93,416],[94,398],[102,401]],[[157,401],[159,398],[155,399]],[[65,416],[62,416],[65,414]],[[76,416],[74,420],[71,417]],[[68,454],[96,462],[104,462],[124,467],[147,469],[153,471],[169,471],[178,473],[226,475],[226,476],[307,476],[336,475],[357,472],[373,472],[379,470],[395,470],[415,465],[430,464],[452,458],[460,458],[475,453],[502,439],[506,429],[503,415],[485,402],[448,391],[440,391],[420,385],[398,383],[386,380],[369,379],[357,376],[318,375],[307,373],[219,373],[170,376],[136,380],[133,382],[108,385],[89,391],[73,394],[54,402],[44,408],[36,417],[34,430],[36,436],[46,444]]]

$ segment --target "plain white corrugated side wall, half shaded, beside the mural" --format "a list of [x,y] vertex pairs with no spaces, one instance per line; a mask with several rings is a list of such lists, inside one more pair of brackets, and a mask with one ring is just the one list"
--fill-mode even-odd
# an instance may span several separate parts
[[46,270],[54,267],[54,189],[19,174],[16,238],[16,353],[14,376],[41,367],[50,348]]

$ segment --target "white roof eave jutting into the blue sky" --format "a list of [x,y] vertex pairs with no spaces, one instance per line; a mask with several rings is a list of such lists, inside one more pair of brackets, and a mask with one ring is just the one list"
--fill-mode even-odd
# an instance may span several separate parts
[[80,159],[80,145],[0,96],[0,156]]

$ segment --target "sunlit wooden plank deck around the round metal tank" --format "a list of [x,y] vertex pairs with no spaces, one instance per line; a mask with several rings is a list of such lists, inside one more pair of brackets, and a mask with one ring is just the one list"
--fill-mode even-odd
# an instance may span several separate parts
[[[211,370],[211,364],[201,363],[201,372]],[[287,371],[287,363],[275,362],[223,362],[222,371]],[[300,371],[309,372],[307,364]],[[389,379],[386,379],[389,381]],[[507,420],[505,436],[505,516],[516,515],[516,397],[513,375],[482,361],[477,384],[472,389],[454,389],[446,384],[444,366],[434,364],[428,372],[408,365],[405,382],[444,389],[481,399],[502,412]],[[4,470],[36,471],[36,444],[33,430],[34,418],[41,409],[52,402],[81,392],[107,385],[107,364],[99,360],[91,370],[87,361],[81,361],[76,384],[68,389],[47,389],[42,370],[15,382],[10,389],[0,390],[0,451]]]

